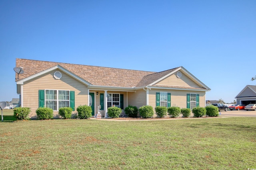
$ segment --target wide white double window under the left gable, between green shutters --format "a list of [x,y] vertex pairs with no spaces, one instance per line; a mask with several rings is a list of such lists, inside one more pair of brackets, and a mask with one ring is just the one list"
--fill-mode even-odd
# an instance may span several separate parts
[[45,90],[45,106],[57,111],[61,107],[69,107],[68,90]]

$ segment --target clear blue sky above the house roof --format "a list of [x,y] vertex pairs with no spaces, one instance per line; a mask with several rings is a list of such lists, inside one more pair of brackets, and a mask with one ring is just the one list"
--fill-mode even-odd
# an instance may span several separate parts
[[[0,101],[16,58],[132,70],[183,66],[206,100],[256,85],[255,0],[0,0]],[[24,70],[26,71],[26,70]]]

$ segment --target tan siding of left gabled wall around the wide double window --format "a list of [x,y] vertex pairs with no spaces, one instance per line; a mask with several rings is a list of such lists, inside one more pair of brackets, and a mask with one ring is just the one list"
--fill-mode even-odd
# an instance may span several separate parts
[[[36,118],[38,109],[38,90],[70,90],[75,92],[75,110],[79,105],[88,105],[88,88],[85,84],[75,80],[69,75],[62,73],[62,78],[56,80],[53,77],[55,71],[38,76],[29,80],[23,85],[23,106],[30,107],[30,117]],[[76,111],[74,111],[76,112]],[[54,116],[58,117],[58,111],[54,111]]]

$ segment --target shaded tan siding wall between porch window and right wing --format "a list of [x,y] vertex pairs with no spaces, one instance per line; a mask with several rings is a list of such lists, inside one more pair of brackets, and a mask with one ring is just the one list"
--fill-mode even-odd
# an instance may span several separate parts
[[128,105],[141,107],[146,105],[146,91],[136,90],[136,92],[128,92]]

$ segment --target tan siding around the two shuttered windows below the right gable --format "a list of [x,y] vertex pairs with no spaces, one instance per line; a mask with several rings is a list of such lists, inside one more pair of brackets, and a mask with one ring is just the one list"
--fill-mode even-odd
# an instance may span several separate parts
[[[199,106],[205,107],[205,92],[196,91],[182,91],[182,90],[149,90],[149,105],[154,109],[156,107],[156,92],[168,92],[171,93],[171,107],[177,106],[180,108],[187,107],[187,94],[196,93],[199,94]],[[154,114],[156,116],[156,114]]]

